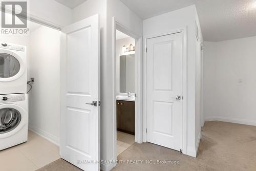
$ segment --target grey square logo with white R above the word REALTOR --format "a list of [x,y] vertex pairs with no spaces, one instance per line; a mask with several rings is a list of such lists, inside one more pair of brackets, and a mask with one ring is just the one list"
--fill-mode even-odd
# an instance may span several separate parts
[[2,28],[27,28],[27,2],[2,2]]

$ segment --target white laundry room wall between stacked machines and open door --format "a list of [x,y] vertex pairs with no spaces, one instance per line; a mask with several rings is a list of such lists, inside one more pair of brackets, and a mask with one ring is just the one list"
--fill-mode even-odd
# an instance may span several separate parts
[[30,33],[29,129],[59,143],[60,31],[41,26]]

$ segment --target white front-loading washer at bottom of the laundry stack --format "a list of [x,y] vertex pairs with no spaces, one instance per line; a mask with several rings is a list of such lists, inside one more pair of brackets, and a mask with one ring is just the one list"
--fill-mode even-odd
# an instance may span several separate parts
[[0,151],[28,140],[28,95],[0,95]]

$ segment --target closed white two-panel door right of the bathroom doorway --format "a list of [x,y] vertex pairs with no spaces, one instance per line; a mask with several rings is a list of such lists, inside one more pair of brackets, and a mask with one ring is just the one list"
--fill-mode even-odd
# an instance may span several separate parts
[[147,39],[146,46],[146,141],[180,151],[182,33]]

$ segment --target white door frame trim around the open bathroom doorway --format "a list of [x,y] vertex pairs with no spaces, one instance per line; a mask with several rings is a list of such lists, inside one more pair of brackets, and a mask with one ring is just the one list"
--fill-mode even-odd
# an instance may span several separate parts
[[143,38],[120,20],[113,17],[112,20],[112,77],[113,77],[113,156],[117,160],[117,124],[116,124],[116,29],[135,39],[135,142],[143,142]]

